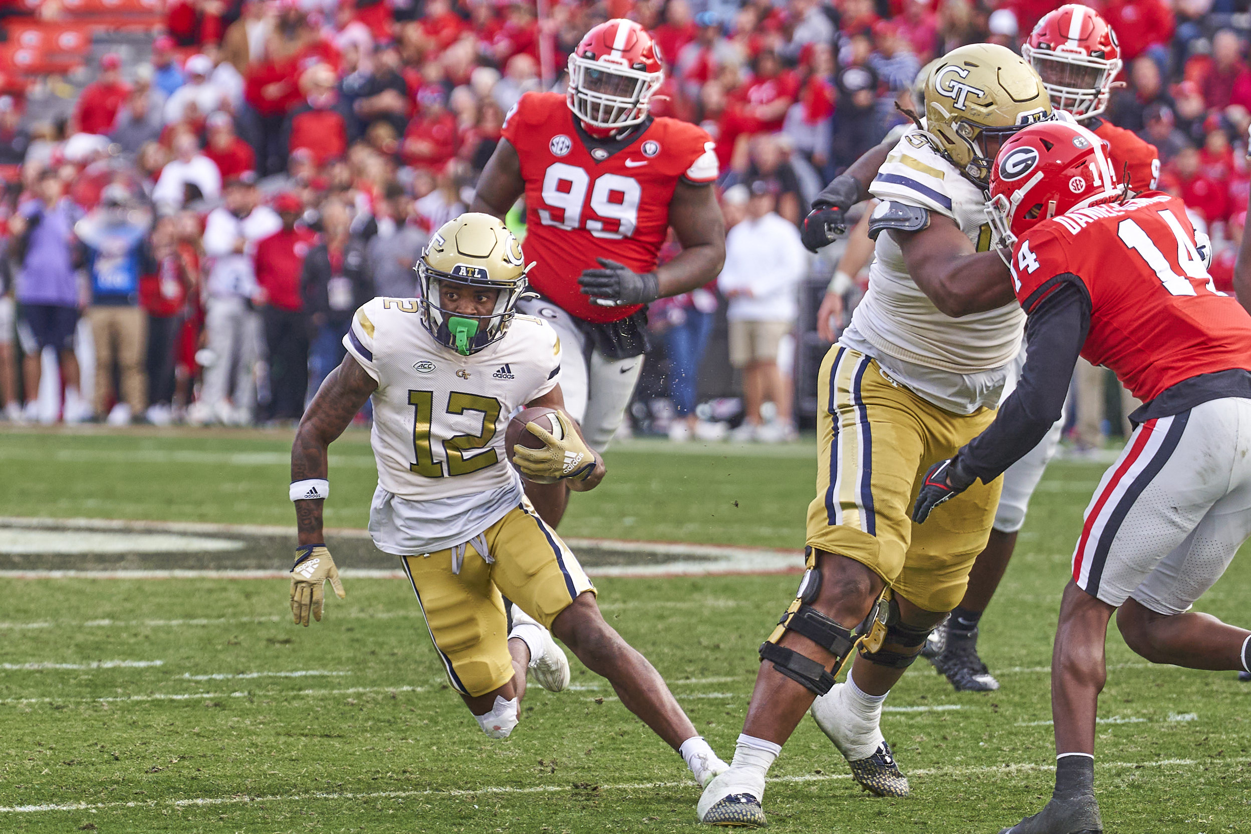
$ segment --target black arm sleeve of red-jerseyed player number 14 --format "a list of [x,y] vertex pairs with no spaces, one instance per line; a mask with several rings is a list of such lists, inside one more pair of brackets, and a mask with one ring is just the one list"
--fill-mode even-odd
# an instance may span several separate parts
[[1090,296],[1077,280],[1065,281],[1038,303],[1025,328],[1021,379],[995,423],[960,450],[963,471],[988,484],[1046,436],[1065,408],[1090,324]]

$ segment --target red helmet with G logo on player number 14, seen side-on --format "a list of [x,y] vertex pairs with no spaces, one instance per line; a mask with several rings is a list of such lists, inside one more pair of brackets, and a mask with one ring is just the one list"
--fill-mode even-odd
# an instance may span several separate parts
[[1042,121],[1003,143],[986,206],[997,245],[1011,249],[1038,221],[1120,200],[1110,145],[1078,124]]

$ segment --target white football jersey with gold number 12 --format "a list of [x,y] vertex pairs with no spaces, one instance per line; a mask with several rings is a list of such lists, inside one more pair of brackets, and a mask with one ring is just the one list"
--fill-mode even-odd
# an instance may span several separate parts
[[378,380],[370,443],[378,485],[407,501],[495,500],[522,483],[504,455],[509,416],[560,379],[560,340],[518,315],[504,336],[462,356],[422,325],[414,299],[377,298],[357,310],[343,344]]

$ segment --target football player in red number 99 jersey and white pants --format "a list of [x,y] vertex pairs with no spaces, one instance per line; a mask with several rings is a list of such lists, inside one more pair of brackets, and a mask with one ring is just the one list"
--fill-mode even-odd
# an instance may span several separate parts
[[[712,138],[648,115],[664,70],[646,29],[599,24],[569,55],[568,70],[565,95],[527,93],[509,111],[470,210],[503,218],[525,195],[523,249],[535,261],[529,279],[540,298],[518,309],[547,319],[564,340],[567,410],[602,451],[642,370],[646,305],[714,279],[726,226],[712,189]],[[682,253],[658,268],[669,226]],[[527,493],[555,525],[564,485],[527,484]]]

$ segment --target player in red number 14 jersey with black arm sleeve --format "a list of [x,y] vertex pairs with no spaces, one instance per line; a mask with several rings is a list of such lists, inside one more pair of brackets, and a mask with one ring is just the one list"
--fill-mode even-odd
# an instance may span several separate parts
[[1191,613],[1251,535],[1251,315],[1216,291],[1185,204],[1125,199],[1103,143],[1026,128],[991,174],[992,224],[1012,244],[1030,353],[991,426],[927,473],[913,521],[990,483],[1058,418],[1078,354],[1142,400],[1086,508],[1052,656],[1056,789],[1001,834],[1097,834],[1095,715],[1107,623],[1152,663],[1251,670],[1251,631]]

